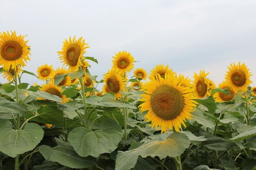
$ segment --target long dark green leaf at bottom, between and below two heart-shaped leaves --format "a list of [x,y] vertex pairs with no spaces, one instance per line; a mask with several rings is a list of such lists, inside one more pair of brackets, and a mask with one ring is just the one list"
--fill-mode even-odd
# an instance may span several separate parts
[[47,161],[58,162],[70,168],[88,168],[95,165],[92,157],[80,157],[69,143],[55,138],[58,146],[51,148],[47,145],[39,146],[39,152]]

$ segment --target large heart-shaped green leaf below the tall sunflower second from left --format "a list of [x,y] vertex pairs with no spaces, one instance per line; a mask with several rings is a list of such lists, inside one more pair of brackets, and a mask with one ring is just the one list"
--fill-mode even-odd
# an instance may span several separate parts
[[113,119],[105,119],[100,129],[87,132],[84,127],[74,128],[68,140],[80,156],[98,157],[103,153],[111,153],[117,148],[123,136],[122,129]]

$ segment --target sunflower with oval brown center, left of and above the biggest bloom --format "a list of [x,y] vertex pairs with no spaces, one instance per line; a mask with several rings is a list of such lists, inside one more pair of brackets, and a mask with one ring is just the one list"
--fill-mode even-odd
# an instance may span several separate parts
[[125,90],[125,82],[121,72],[115,69],[108,70],[108,73],[104,75],[103,79],[109,90],[115,94],[115,98],[121,98],[121,91]]

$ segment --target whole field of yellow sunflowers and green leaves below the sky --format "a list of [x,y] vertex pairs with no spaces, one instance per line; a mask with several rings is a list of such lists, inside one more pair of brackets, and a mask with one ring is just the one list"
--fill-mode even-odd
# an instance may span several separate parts
[[160,64],[147,74],[119,51],[101,79],[87,48],[69,37],[62,68],[32,73],[26,35],[0,33],[0,170],[256,170],[256,87],[245,63],[216,85],[207,70],[191,80]]

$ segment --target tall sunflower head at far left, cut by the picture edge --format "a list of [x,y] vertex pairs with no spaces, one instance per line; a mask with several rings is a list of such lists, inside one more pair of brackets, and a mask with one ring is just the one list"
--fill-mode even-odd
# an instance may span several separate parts
[[30,46],[24,40],[26,35],[18,35],[16,32],[9,31],[0,33],[0,65],[4,70],[10,67],[14,69],[16,66],[26,66],[27,60],[30,60]]

